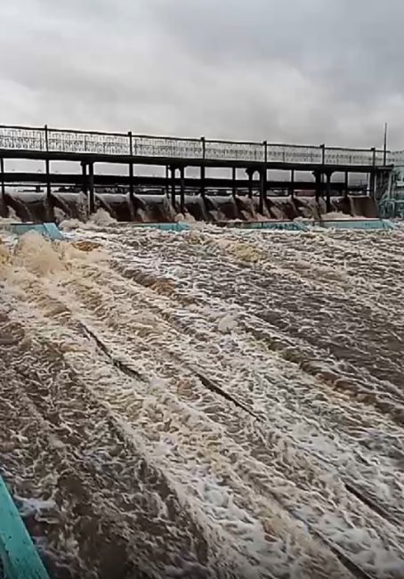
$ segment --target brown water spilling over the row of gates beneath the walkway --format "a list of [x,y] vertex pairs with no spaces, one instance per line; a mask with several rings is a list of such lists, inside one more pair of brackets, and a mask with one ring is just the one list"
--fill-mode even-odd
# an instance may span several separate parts
[[[88,216],[88,203],[83,193],[55,192],[50,199],[41,192],[7,192],[5,207],[0,204],[0,216],[17,216],[21,221],[61,221],[81,219]],[[132,200],[125,193],[99,193],[95,195],[95,206],[102,209],[119,222],[136,221],[171,222],[178,207],[171,205],[165,194],[138,194]],[[261,219],[295,219],[295,217],[318,217],[326,212],[324,200],[316,204],[314,197],[269,197],[264,204],[263,214],[259,212],[257,197],[222,194],[221,196],[187,195],[185,213],[197,221],[218,222],[228,220],[257,221]],[[333,198],[332,210],[352,216],[376,217],[374,200],[366,196],[346,199]]]

